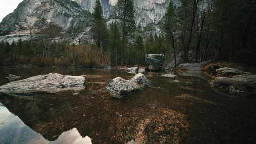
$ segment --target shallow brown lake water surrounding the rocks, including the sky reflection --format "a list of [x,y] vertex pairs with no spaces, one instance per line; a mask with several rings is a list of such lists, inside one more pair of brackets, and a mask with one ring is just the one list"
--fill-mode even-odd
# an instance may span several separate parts
[[51,72],[87,75],[89,84],[78,95],[0,95],[0,144],[84,144],[88,137],[93,144],[256,143],[256,99],[220,95],[204,73],[147,73],[151,85],[123,99],[105,89],[115,77],[133,76],[120,70],[0,67],[0,85],[8,74]]

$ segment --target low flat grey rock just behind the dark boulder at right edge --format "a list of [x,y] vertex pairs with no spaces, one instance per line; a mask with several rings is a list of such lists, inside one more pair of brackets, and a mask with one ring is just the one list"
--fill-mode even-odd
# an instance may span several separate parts
[[241,75],[241,74],[252,74],[250,72],[243,72],[238,69],[227,68],[227,67],[217,69],[216,72],[217,72],[217,75],[220,77],[232,77],[232,76]]

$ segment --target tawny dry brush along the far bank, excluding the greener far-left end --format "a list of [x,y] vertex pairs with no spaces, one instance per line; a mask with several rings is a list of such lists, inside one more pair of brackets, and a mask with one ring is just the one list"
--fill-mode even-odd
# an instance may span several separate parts
[[68,47],[64,56],[49,58],[37,56],[31,58],[28,63],[37,66],[93,67],[109,65],[110,59],[109,54],[103,54],[100,49],[92,49],[88,45],[77,45]]

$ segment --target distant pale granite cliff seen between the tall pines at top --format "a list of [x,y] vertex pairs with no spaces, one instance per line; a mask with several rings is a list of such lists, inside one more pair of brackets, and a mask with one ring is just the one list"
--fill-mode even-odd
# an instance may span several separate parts
[[[95,0],[75,0],[82,8],[93,12]],[[118,0],[100,0],[103,15],[109,17],[113,6]],[[135,20],[137,27],[146,27],[148,24],[161,20],[166,12],[170,0],[134,0]],[[173,0],[178,5],[178,0]]]

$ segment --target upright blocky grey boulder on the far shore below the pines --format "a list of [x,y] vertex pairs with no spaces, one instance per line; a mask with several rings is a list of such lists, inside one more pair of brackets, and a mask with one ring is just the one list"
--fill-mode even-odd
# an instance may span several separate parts
[[146,54],[145,62],[149,70],[159,71],[164,69],[164,57],[163,54]]

